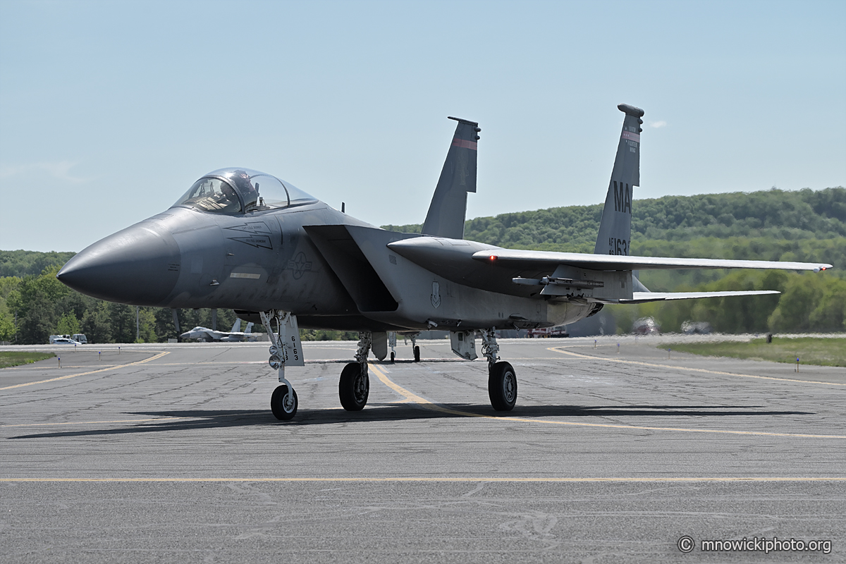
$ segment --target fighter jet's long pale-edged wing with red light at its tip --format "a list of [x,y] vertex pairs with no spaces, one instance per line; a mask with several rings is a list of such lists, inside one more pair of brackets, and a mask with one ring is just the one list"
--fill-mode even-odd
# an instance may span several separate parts
[[474,260],[521,269],[549,268],[556,265],[576,266],[597,271],[674,270],[683,268],[774,268],[786,271],[825,271],[832,268],[820,262],[788,262],[781,260],[679,259],[653,256],[589,255],[558,253],[543,250],[485,249],[473,254]]

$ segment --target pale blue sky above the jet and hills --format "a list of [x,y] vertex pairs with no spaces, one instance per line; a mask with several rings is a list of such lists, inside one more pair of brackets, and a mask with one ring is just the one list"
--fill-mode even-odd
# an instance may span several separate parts
[[[468,216],[846,184],[843,2],[0,2],[0,249],[81,250],[205,172],[422,222],[454,122]],[[634,208],[636,214],[636,205]]]

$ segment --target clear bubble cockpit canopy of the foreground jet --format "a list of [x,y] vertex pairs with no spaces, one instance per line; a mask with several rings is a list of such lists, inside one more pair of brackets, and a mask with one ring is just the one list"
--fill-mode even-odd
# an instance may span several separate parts
[[249,168],[221,168],[209,172],[175,204],[211,213],[248,213],[316,201],[294,184]]

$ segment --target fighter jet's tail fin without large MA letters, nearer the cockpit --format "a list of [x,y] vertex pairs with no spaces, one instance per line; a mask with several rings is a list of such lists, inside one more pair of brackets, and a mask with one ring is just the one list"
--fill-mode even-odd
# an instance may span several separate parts
[[455,128],[447,161],[443,163],[441,178],[431,198],[429,213],[423,223],[423,234],[454,239],[464,238],[464,215],[467,212],[467,193],[475,192],[476,142],[479,124],[460,118]]

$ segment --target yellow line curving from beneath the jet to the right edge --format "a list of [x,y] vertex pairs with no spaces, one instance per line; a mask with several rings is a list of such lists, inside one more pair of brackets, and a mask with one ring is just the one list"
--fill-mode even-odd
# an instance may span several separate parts
[[657,430],[657,431],[680,431],[685,433],[718,433],[724,435],[763,435],[763,436],[788,436],[788,437],[802,437],[813,439],[846,439],[846,435],[806,435],[800,433],[768,433],[766,431],[738,431],[738,430],[721,430],[721,429],[688,429],[684,427],[647,427],[645,425],[624,425],[624,424],[607,424],[607,423],[576,423],[573,421],[553,421],[551,419],[525,419],[520,417],[497,417],[494,415],[483,415],[481,413],[471,413],[469,411],[460,411],[459,409],[447,408],[437,403],[418,396],[414,392],[409,392],[402,386],[398,386],[391,381],[387,375],[382,373],[382,370],[376,368],[375,365],[370,364],[371,370],[376,373],[376,376],[382,381],[382,384],[397,392],[400,396],[405,397],[409,402],[415,402],[420,407],[431,409],[441,413],[450,413],[452,415],[460,415],[462,417],[475,417],[477,419],[494,419],[497,421],[518,422],[518,423],[542,423],[542,424],[556,424],[569,425],[573,427],[602,427],[605,429],[636,429],[636,430]]

